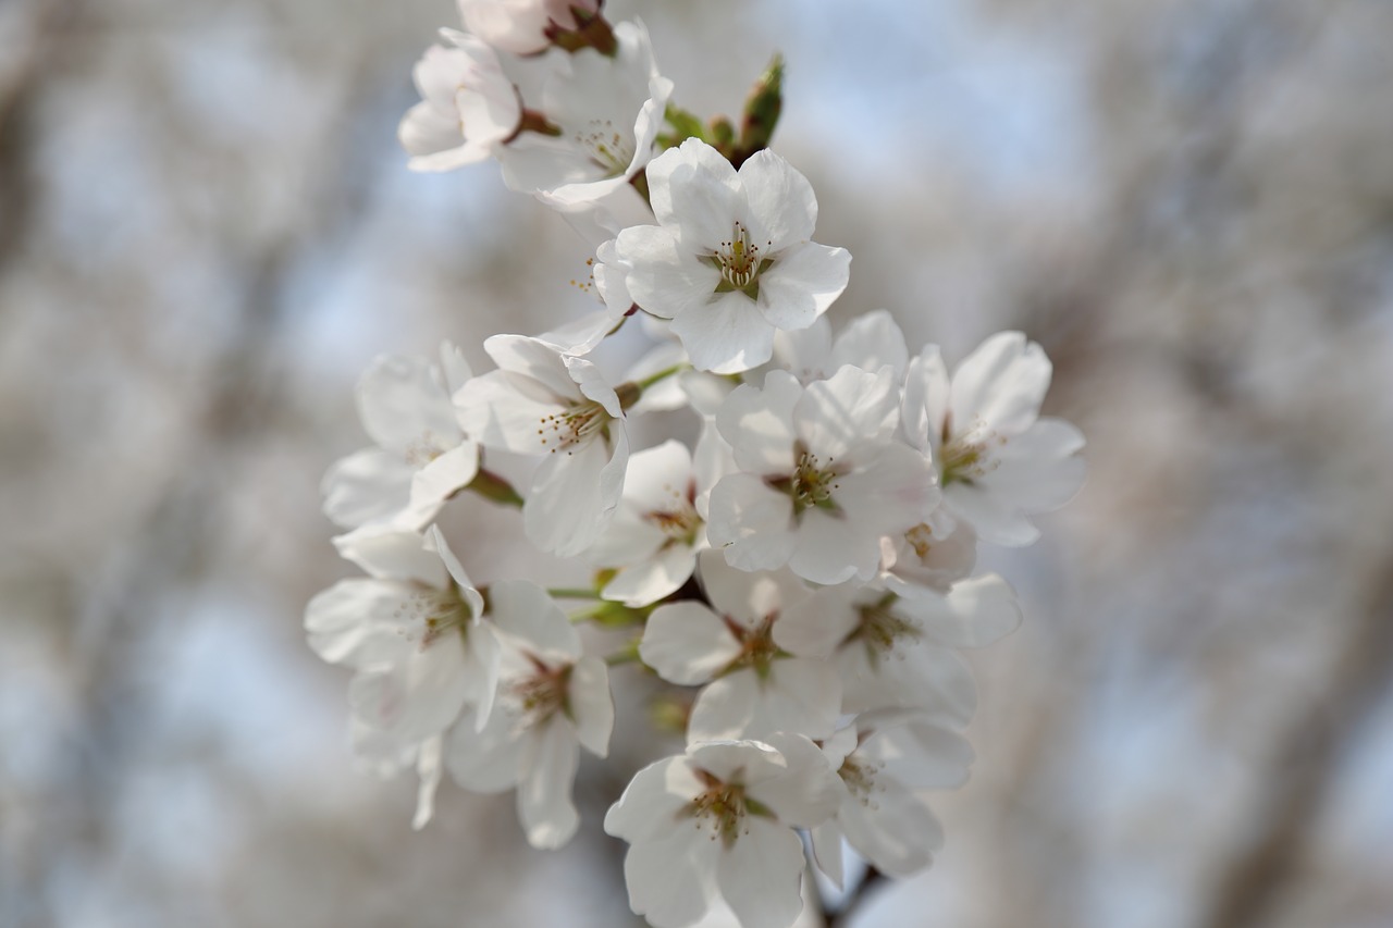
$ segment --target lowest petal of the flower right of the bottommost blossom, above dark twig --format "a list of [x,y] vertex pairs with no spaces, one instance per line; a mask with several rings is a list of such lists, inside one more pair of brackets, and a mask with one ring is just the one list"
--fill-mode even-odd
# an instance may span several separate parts
[[847,842],[878,869],[910,876],[933,861],[943,846],[943,826],[928,807],[893,780],[876,779],[875,791],[861,801],[853,796],[837,821]]

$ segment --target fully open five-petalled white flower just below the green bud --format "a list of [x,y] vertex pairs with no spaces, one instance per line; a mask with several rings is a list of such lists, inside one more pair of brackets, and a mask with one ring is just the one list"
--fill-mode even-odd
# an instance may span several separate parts
[[621,231],[614,259],[698,369],[763,364],[775,330],[811,326],[846,288],[851,255],[809,241],[818,201],[779,155],[756,152],[737,173],[690,138],[653,159],[648,187],[659,224]]

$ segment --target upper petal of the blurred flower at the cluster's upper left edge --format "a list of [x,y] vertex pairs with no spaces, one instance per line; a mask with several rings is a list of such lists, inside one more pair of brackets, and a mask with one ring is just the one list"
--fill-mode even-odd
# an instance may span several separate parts
[[405,451],[425,438],[460,439],[440,372],[425,358],[382,355],[358,380],[358,415],[373,442]]

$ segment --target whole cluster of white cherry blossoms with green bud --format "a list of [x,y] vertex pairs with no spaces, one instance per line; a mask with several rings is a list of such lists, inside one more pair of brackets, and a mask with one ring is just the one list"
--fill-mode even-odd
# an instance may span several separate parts
[[[610,665],[641,665],[685,745],[632,773],[605,830],[631,846],[651,924],[723,900],[747,928],[787,928],[798,830],[839,883],[844,846],[889,875],[926,867],[942,830],[924,791],[963,783],[972,757],[960,649],[1021,620],[1010,584],[975,573],[978,545],[1035,541],[1029,517],[1082,482],[1082,436],[1039,415],[1049,361],[1006,332],[950,372],[935,346],[910,357],[885,311],[833,333],[851,258],[812,241],[812,185],[766,148],[777,64],[737,134],[673,106],[644,26],[599,3],[460,11],[468,31],[415,70],[410,166],[496,157],[514,190],[607,230],[603,309],[493,336],[481,375],[446,344],[439,364],[386,357],[362,376],[375,447],[323,492],[365,575],[305,617],[311,647],[354,670],[355,752],[417,768],[418,828],[449,771],[515,789],[527,839],[560,847],[579,750],[609,750]],[[652,222],[617,219],[634,201]],[[612,376],[593,348],[635,316],[657,348]],[[630,419],[656,408],[695,414],[695,446],[632,450]],[[485,467],[495,451],[535,458],[527,486]],[[436,525],[461,492],[518,506],[528,541],[588,562],[593,587],[472,581]],[[581,596],[599,605],[557,603]],[[607,660],[575,627],[598,616],[630,635]]]

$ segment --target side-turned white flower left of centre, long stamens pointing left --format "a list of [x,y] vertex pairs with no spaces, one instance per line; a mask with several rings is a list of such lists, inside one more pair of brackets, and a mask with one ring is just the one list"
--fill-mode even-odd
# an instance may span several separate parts
[[624,489],[620,397],[593,364],[540,339],[500,334],[483,347],[499,369],[456,396],[461,421],[486,447],[545,456],[522,506],[524,528],[543,550],[579,555]]

